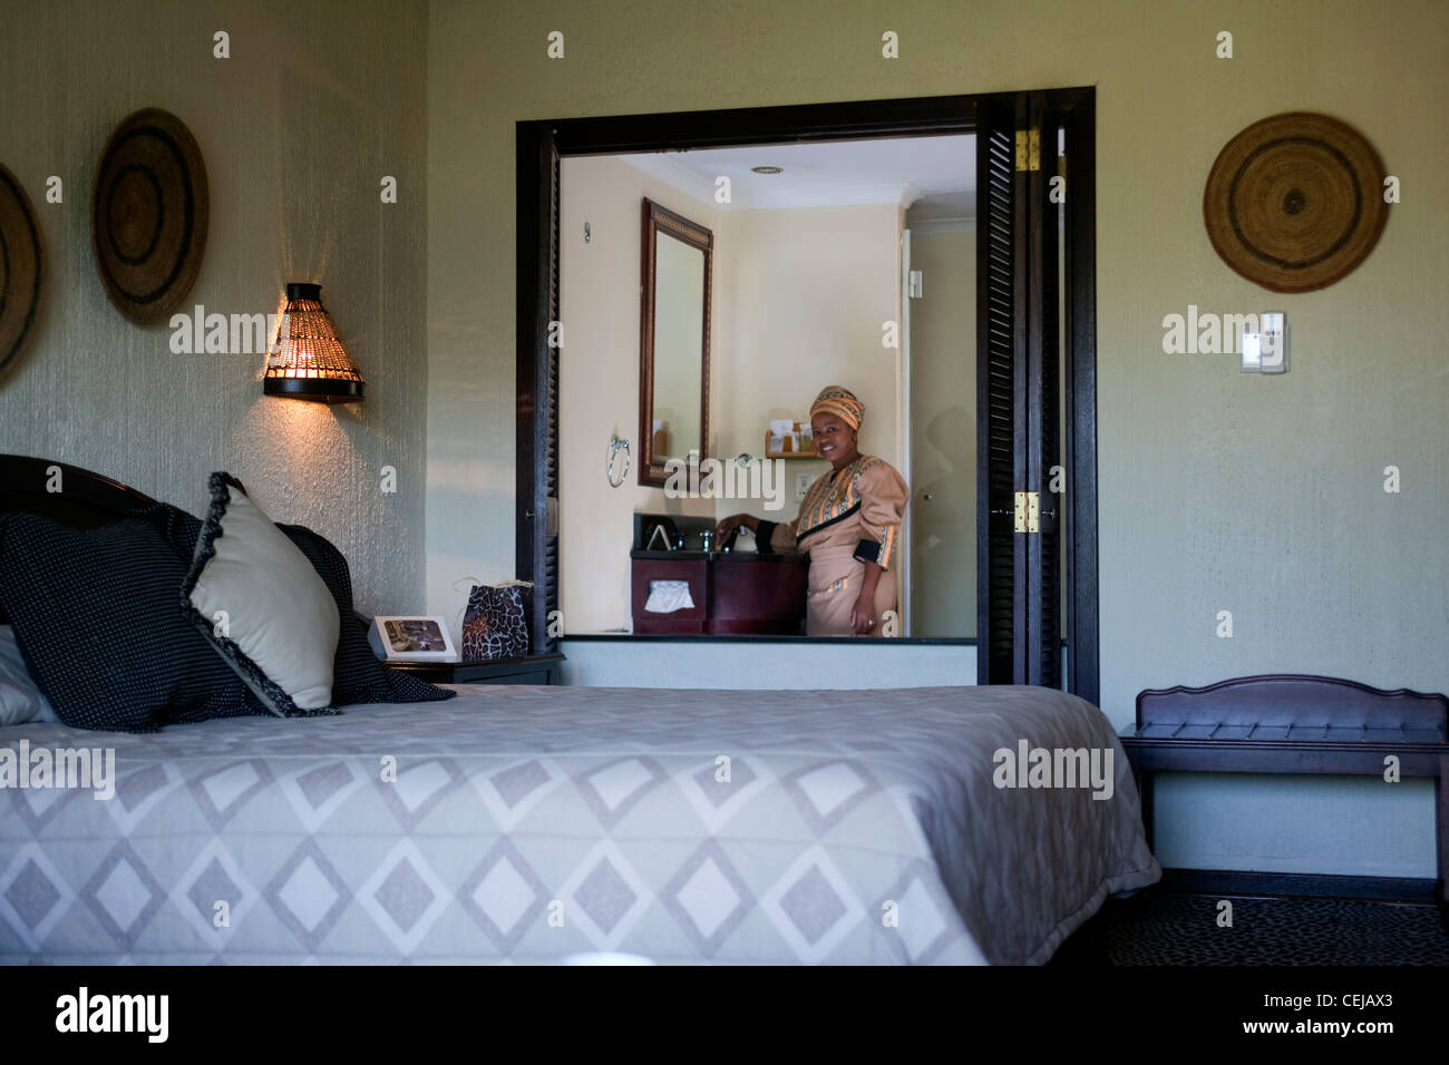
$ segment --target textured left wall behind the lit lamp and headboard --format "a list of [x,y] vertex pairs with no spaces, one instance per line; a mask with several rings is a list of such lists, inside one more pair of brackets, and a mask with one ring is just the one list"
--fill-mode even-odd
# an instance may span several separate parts
[[[46,245],[39,329],[0,378],[0,452],[96,469],[199,511],[229,469],[348,555],[364,610],[420,610],[426,407],[423,3],[6,0],[0,162]],[[230,35],[230,59],[212,35]],[[367,401],[264,398],[258,355],[172,355],[101,288],[90,185],[112,129],[165,107],[206,159],[210,233],[187,309],[275,313],[323,285]],[[49,175],[65,201],[45,203]],[[398,203],[380,180],[398,180]],[[510,388],[511,394],[511,388]],[[397,469],[397,494],[380,469]]]

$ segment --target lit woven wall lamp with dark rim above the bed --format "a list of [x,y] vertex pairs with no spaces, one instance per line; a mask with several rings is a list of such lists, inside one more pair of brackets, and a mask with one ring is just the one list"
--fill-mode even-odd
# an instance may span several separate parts
[[267,396],[290,396],[319,403],[362,398],[362,374],[352,365],[322,306],[322,285],[287,285],[287,310],[277,323],[277,343],[267,358]]

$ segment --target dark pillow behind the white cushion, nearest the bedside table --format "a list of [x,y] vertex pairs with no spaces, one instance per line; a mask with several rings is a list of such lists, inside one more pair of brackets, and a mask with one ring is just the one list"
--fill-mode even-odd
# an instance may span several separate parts
[[[170,503],[138,511],[138,517],[149,522],[171,543],[171,549],[191,561],[196,542],[201,535],[201,520]],[[300,525],[278,525],[287,538],[297,545],[312,568],[338,601],[341,632],[338,655],[332,664],[332,704],[355,706],[358,703],[435,703],[452,698],[456,691],[439,688],[400,669],[391,669],[378,661],[368,645],[369,619],[356,613],[352,606],[352,572],[342,552],[325,536]],[[259,713],[265,710],[258,709]]]

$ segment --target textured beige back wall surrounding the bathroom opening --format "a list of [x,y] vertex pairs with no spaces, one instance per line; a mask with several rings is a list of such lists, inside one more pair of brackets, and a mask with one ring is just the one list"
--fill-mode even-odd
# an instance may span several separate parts
[[[429,32],[435,610],[459,562],[513,568],[514,122],[1095,85],[1104,709],[1271,669],[1449,688],[1445,4],[433,0]],[[1290,109],[1362,129],[1404,201],[1358,271],[1284,297],[1223,265],[1201,194],[1233,133]],[[1291,372],[1164,355],[1190,303],[1285,310]]]

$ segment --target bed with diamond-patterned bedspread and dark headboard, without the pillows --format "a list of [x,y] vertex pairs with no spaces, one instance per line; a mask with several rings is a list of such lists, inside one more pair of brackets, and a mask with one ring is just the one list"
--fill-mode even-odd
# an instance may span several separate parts
[[[93,525],[149,501],[78,469],[67,496]],[[0,961],[1040,964],[1161,877],[1117,736],[1065,693],[456,691],[0,729],[114,751],[109,798],[0,794]],[[1037,749],[1101,772],[1035,787]]]

